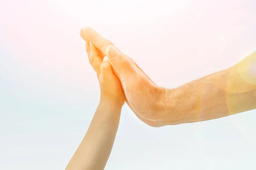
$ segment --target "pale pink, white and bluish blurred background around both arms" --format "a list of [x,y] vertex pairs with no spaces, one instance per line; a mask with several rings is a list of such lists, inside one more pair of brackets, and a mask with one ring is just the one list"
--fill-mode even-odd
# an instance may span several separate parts
[[[158,85],[256,50],[255,0],[1,0],[0,170],[64,170],[99,102],[91,26]],[[125,105],[106,170],[255,170],[256,111],[149,127]]]

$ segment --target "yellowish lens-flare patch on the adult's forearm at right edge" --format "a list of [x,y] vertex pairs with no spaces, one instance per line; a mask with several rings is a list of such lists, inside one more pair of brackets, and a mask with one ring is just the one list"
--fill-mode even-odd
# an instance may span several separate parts
[[230,115],[255,109],[256,74],[253,70],[255,67],[256,52],[230,69],[226,90],[227,108]]

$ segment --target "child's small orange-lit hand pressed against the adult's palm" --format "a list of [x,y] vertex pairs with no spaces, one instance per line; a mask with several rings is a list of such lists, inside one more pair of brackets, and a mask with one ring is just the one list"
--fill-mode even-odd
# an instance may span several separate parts
[[102,53],[93,43],[86,43],[86,51],[99,80],[100,102],[122,107],[125,103],[125,94],[119,79],[113,74],[108,57],[105,56],[102,60]]

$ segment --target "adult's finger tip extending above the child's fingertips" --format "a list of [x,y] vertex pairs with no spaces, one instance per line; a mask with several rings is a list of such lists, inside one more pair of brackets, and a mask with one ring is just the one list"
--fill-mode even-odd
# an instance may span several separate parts
[[87,40],[92,42],[105,56],[108,46],[113,45],[113,42],[100,35],[93,28],[86,27],[82,28],[82,30]]

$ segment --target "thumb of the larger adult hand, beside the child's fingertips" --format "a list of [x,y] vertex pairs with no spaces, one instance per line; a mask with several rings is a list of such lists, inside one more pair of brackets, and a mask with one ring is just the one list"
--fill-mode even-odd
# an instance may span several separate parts
[[128,58],[122,54],[114,45],[108,46],[106,54],[108,56],[109,62],[117,73],[120,74],[122,71],[125,72],[132,68]]

